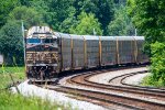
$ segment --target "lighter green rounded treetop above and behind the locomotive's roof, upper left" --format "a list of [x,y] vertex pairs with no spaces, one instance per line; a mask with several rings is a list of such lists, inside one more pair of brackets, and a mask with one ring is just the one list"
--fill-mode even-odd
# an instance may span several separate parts
[[35,9],[28,7],[16,7],[9,14],[8,21],[23,21],[26,29],[33,25],[43,24],[44,20]]

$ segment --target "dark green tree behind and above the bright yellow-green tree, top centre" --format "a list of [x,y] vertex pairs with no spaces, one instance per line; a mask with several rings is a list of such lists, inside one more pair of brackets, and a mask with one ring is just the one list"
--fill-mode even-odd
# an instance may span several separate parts
[[86,13],[94,13],[101,23],[103,34],[108,34],[108,24],[113,19],[113,0],[75,0],[74,7],[76,8],[76,16],[82,11]]

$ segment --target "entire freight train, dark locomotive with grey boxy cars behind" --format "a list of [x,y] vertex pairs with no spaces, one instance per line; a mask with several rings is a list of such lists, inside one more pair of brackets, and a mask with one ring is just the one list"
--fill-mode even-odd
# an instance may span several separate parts
[[144,64],[144,36],[74,35],[32,26],[25,35],[28,78],[57,78],[62,72]]

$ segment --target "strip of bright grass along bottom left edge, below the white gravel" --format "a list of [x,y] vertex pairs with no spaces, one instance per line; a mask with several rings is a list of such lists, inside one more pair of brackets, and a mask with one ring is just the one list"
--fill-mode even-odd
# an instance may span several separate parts
[[72,110],[57,102],[37,97],[23,97],[10,92],[0,92],[0,110]]

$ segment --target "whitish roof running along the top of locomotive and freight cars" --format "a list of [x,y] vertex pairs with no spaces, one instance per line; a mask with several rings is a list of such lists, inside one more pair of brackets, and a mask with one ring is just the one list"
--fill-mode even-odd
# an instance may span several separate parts
[[99,36],[99,35],[76,35],[76,34],[67,34],[61,32],[54,32],[48,26],[32,26],[28,31],[26,37],[31,38],[37,35],[41,38],[48,37],[51,35],[53,38],[57,37],[65,37],[65,38],[85,38],[85,40],[120,40],[120,41],[128,41],[128,40],[144,40],[144,36]]

